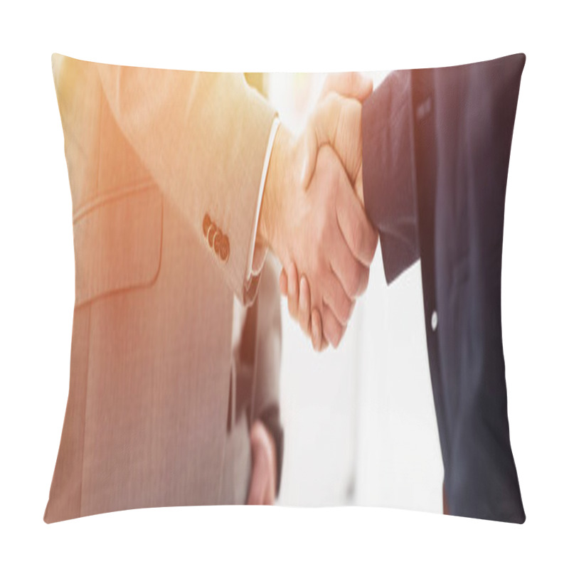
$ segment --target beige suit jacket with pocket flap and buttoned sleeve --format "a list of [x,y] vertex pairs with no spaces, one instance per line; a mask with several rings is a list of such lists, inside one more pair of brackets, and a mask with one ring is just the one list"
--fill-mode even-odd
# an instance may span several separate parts
[[[53,75],[73,199],[75,312],[45,520],[243,503],[250,447],[247,420],[235,415],[243,366],[232,349],[233,299],[250,304],[259,287],[248,265],[275,112],[243,75],[62,55]],[[276,277],[261,276],[257,415],[278,405],[280,363]]]

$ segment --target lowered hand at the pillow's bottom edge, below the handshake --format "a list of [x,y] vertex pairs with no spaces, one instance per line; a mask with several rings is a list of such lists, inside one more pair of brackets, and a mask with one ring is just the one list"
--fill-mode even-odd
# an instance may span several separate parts
[[277,450],[275,441],[261,420],[251,427],[252,472],[248,505],[271,506],[277,488]]

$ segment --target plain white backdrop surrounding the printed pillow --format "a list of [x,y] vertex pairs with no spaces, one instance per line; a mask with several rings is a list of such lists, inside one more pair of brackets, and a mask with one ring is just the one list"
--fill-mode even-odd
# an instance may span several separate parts
[[[531,11],[495,0],[464,8],[442,1],[360,0],[198,6],[165,0],[126,7],[101,0],[78,6],[11,3],[0,23],[0,565],[567,565],[568,46],[560,4],[543,1]],[[74,280],[53,51],[108,63],[235,71],[432,67],[527,54],[506,195],[502,292],[523,526],[388,509],[245,507],[127,511],[43,523],[68,391]],[[383,278],[379,266],[370,287],[381,288],[374,284]],[[418,303],[413,275],[407,278],[400,286]],[[378,291],[378,304],[371,297],[368,302],[362,329],[388,298]],[[417,329],[414,344],[419,335]],[[393,365],[388,362],[398,358],[380,356],[365,365]],[[373,385],[381,389],[381,383]],[[416,387],[424,391],[424,382]],[[366,393],[364,382],[357,397],[376,406],[390,396],[376,393],[368,400]],[[366,416],[361,413],[362,421]],[[383,420],[395,425],[405,418]],[[358,423],[356,429],[381,426]],[[432,440],[425,454],[436,454],[430,445]],[[384,440],[378,452],[398,450]],[[400,461],[405,464],[404,457]],[[361,472],[380,472],[381,464],[368,468],[346,471],[339,487],[345,490]],[[396,472],[382,475],[385,484],[398,484]],[[436,475],[429,474],[427,486]],[[385,496],[370,499],[385,503]]]

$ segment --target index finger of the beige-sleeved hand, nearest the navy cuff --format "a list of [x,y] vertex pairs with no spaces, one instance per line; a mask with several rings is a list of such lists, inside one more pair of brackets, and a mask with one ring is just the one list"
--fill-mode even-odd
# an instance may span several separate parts
[[336,201],[338,225],[352,255],[369,267],[376,254],[378,233],[345,175],[340,177],[339,184],[339,199]]

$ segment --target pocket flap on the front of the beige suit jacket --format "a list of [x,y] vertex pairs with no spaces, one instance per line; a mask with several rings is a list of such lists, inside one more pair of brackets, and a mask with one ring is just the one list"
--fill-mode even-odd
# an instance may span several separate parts
[[162,196],[153,185],[113,196],[73,220],[75,306],[151,285],[160,269]]

